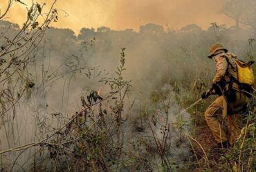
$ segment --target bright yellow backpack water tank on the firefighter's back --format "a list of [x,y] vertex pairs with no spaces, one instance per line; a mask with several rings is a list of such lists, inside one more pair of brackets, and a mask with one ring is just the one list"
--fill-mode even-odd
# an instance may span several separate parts
[[255,83],[255,78],[253,76],[253,69],[250,67],[250,65],[252,65],[254,62],[250,61],[245,63],[244,61],[235,59],[235,63],[237,64],[238,82],[253,86]]

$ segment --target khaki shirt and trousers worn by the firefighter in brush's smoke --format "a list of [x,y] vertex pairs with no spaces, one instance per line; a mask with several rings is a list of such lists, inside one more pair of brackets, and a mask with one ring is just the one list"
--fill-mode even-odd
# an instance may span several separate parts
[[[237,67],[235,61],[233,61],[236,56],[231,53],[222,53],[218,56],[215,56],[216,60],[216,74],[212,83],[218,83],[221,80],[225,80],[228,82],[230,78],[226,76],[226,71],[229,74],[237,78],[237,72],[232,69],[231,65],[228,65],[226,58],[228,57],[229,62],[233,67]],[[236,100],[235,102],[229,103],[226,102],[226,98],[223,96],[219,96],[214,102],[208,107],[205,111],[205,120],[212,131],[212,134],[217,141],[217,143],[226,142],[229,140],[230,144],[234,144],[236,138],[239,136],[242,123],[241,123],[241,114],[235,114],[235,111],[238,111],[246,105],[246,96],[239,92],[237,83],[233,83],[233,88],[237,90],[236,92]],[[217,120],[217,116],[223,116],[226,118],[228,115],[228,131],[230,133],[230,137],[226,135],[225,131],[221,128],[219,121]]]

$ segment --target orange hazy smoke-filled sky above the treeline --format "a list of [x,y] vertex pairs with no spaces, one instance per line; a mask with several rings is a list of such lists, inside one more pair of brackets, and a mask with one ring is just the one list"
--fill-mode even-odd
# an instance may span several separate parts
[[[8,0],[0,0],[3,11]],[[22,0],[21,0],[22,1]],[[31,4],[31,0],[23,0]],[[53,0],[34,0],[46,3]],[[156,23],[174,30],[196,23],[203,29],[210,23],[232,25],[233,21],[221,14],[223,0],[57,0],[60,21],[56,28],[70,28],[76,34],[81,28],[107,26],[113,30],[132,28],[138,31],[140,25]],[[26,19],[26,6],[13,2],[6,20],[22,25]],[[68,16],[66,15],[68,14]]]

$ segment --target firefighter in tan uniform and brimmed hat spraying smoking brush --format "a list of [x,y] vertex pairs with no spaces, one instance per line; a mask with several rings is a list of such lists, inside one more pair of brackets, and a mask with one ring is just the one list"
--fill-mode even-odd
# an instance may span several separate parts
[[[204,92],[201,97],[208,98],[212,94],[219,96],[205,111],[205,120],[218,147],[228,148],[235,143],[240,134],[242,128],[241,109],[246,107],[246,95],[239,90],[239,84],[233,82],[238,78],[235,54],[228,52],[221,44],[214,44],[210,47],[208,58],[216,63],[216,73],[212,80],[212,89]],[[221,115],[223,119],[228,118],[229,134],[221,128],[221,124],[217,120],[217,117]]]

